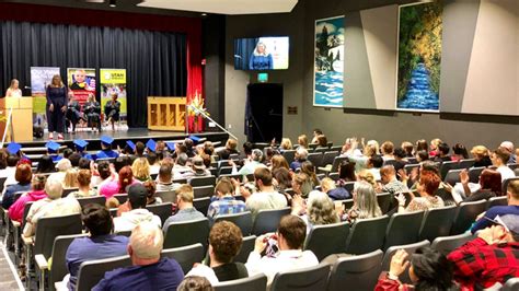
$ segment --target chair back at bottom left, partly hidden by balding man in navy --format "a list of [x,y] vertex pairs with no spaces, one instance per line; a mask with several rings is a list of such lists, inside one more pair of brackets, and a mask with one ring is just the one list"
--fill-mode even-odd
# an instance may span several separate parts
[[128,255],[84,261],[79,267],[76,290],[90,291],[103,279],[105,272],[127,266],[131,266]]

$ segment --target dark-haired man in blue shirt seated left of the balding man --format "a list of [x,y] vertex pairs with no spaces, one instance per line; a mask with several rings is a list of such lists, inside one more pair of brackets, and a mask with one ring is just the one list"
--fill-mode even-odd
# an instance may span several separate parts
[[111,234],[114,223],[106,207],[88,205],[81,211],[81,219],[90,236],[73,240],[67,249],[69,290],[76,290],[79,267],[83,261],[124,256],[128,245],[128,237]]

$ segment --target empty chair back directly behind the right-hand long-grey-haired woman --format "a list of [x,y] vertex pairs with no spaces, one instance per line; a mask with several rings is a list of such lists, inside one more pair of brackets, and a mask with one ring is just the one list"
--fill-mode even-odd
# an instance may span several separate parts
[[361,255],[382,248],[389,220],[388,216],[357,219],[346,240],[346,254]]

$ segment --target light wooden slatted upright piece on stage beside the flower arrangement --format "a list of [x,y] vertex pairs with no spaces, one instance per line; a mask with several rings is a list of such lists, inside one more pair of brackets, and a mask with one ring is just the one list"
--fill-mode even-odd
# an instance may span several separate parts
[[148,129],[185,130],[186,97],[148,97]]

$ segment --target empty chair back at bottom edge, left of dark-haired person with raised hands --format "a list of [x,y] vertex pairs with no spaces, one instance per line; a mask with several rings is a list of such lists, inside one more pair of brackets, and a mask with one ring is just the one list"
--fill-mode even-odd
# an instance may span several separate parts
[[373,290],[377,284],[384,253],[374,252],[338,258],[332,267],[328,291]]

